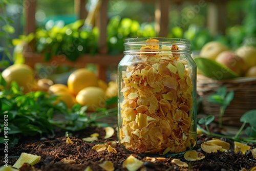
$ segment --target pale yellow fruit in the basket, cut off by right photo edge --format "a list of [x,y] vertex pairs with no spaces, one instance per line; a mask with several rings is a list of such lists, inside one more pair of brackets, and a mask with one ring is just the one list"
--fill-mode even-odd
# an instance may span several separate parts
[[256,66],[256,48],[252,46],[242,46],[235,53],[244,59],[248,68]]

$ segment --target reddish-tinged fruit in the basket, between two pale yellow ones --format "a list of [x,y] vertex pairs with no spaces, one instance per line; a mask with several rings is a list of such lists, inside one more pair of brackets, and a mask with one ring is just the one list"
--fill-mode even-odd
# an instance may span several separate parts
[[217,57],[216,61],[228,67],[233,72],[243,76],[247,70],[247,65],[241,57],[232,51],[223,51]]

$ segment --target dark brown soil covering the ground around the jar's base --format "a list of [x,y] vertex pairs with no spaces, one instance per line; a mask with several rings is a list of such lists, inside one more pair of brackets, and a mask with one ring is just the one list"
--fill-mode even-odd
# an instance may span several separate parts
[[[214,128],[212,128],[214,129]],[[215,129],[216,131],[216,129]],[[82,138],[89,137],[93,133],[99,133],[99,141],[93,143],[87,143],[82,141]],[[34,166],[24,167],[23,170],[84,170],[88,165],[92,170],[103,170],[98,164],[110,160],[114,163],[115,170],[127,170],[122,168],[122,162],[131,154],[126,153],[117,144],[115,148],[117,154],[109,153],[107,150],[96,152],[92,147],[98,143],[104,143],[109,141],[117,141],[117,134],[113,137],[104,140],[105,131],[100,127],[88,127],[84,131],[69,133],[71,140],[74,144],[67,144],[65,131],[56,129],[55,135],[45,135],[44,137],[25,137],[18,145],[8,149],[8,164],[13,165],[18,159],[21,153],[29,153],[41,156],[41,160]],[[209,140],[213,137],[207,135],[198,135],[197,145],[194,149],[205,155],[205,158],[190,162],[186,161],[183,156],[167,157],[165,160],[147,160],[146,157],[140,157],[134,155],[138,159],[144,162],[144,170],[242,170],[245,168],[249,170],[253,166],[256,166],[256,159],[253,159],[252,155],[240,155],[233,152],[233,142],[227,140],[231,149],[228,152],[217,152],[207,154],[202,151],[200,144],[205,140]],[[252,144],[255,147],[255,144]],[[1,149],[1,156],[4,156],[4,150]],[[65,164],[61,162],[62,159],[73,159],[75,162],[71,164]],[[172,163],[174,159],[180,159],[186,162],[189,167],[179,167]],[[3,157],[1,157],[1,165],[3,165]],[[141,168],[142,168],[141,167]]]

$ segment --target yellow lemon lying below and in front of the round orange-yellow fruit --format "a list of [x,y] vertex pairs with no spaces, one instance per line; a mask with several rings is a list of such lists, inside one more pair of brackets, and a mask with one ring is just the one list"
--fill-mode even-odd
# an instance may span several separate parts
[[105,92],[99,87],[87,87],[77,94],[76,101],[82,106],[88,105],[88,111],[93,112],[105,107]]

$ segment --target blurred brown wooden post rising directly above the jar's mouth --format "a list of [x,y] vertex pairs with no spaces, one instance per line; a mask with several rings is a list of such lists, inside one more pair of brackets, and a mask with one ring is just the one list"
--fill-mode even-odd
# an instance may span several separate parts
[[156,25],[155,30],[159,37],[167,37],[168,35],[168,24],[169,24],[169,1],[161,0],[156,1],[155,10]]

